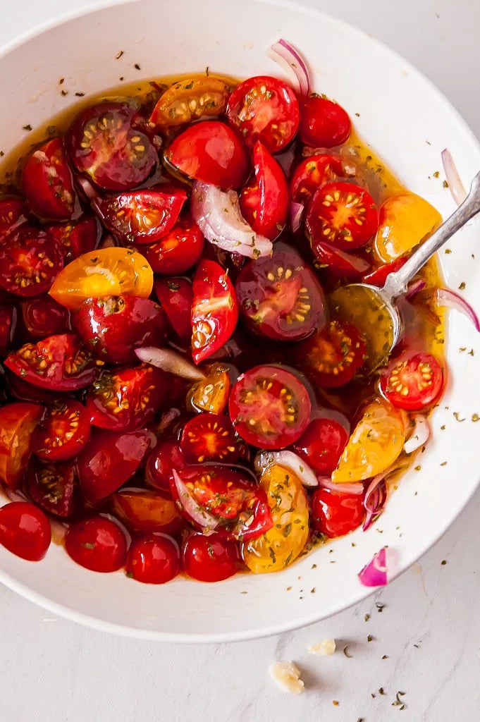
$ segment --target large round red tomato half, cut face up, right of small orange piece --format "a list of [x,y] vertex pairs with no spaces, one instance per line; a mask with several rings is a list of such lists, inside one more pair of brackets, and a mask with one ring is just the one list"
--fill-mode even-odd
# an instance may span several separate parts
[[239,376],[229,401],[230,419],[245,441],[280,449],[294,443],[310,421],[310,396],[302,382],[277,366],[257,366]]

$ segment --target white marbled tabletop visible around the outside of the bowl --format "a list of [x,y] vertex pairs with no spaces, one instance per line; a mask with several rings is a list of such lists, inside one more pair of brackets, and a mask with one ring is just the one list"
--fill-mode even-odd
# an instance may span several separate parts
[[[406,56],[480,136],[478,0],[304,1]],[[0,0],[0,45],[89,4]],[[477,494],[419,564],[362,604],[254,642],[187,647],[116,638],[57,619],[0,586],[0,721],[476,722],[479,513]],[[338,646],[333,657],[307,653],[308,644],[331,637]],[[342,653],[346,645],[352,658]],[[297,661],[303,695],[286,696],[274,686],[267,671],[274,659]],[[406,692],[404,710],[391,704],[398,690]]]

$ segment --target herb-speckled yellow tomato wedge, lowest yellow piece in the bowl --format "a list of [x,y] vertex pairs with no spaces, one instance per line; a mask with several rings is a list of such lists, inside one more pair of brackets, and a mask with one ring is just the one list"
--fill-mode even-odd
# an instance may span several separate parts
[[245,564],[256,574],[287,567],[302,552],[308,536],[308,500],[300,479],[272,464],[263,471],[260,485],[269,499],[274,526],[243,544]]

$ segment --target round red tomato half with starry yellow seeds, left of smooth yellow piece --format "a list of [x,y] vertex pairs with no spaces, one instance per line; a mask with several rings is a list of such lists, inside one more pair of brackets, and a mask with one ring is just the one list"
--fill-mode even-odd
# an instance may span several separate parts
[[307,208],[310,243],[331,243],[342,251],[365,245],[378,228],[378,212],[368,191],[353,183],[326,183]]

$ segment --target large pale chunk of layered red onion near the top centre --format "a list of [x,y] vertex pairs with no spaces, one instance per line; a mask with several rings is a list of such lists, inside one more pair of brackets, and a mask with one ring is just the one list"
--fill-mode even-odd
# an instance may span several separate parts
[[256,233],[240,213],[235,191],[225,192],[210,183],[195,181],[191,213],[206,240],[224,251],[248,258],[271,254],[271,241]]

